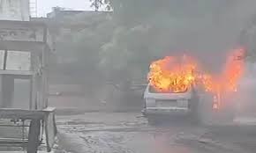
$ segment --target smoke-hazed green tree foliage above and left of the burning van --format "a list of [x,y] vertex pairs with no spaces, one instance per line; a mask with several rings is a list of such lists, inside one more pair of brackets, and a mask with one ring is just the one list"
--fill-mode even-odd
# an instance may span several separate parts
[[191,43],[197,42],[190,40],[191,35],[210,25],[218,7],[204,0],[110,0],[110,4],[117,28],[102,46],[100,66],[109,77],[119,72],[120,78],[131,80],[146,79],[153,60],[192,48]]

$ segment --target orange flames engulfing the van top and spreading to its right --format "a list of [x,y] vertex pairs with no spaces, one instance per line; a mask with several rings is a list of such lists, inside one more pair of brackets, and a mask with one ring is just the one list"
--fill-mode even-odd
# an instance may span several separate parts
[[155,91],[184,92],[196,80],[203,84],[206,91],[220,92],[237,91],[237,83],[244,72],[245,49],[235,49],[228,56],[221,74],[210,75],[199,72],[197,62],[188,56],[176,58],[167,56],[150,65],[148,82]]

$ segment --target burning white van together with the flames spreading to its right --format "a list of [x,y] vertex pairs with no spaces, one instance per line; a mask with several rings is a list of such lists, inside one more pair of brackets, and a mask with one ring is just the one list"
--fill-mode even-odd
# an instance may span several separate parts
[[244,57],[244,48],[232,50],[217,74],[199,68],[186,55],[152,62],[142,113],[149,122],[166,114],[184,114],[200,121],[206,116],[207,120],[233,120]]

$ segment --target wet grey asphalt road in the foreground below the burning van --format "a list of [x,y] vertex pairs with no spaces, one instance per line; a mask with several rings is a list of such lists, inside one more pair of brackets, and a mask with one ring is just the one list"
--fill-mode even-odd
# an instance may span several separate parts
[[71,153],[254,153],[252,125],[201,127],[168,120],[147,125],[140,113],[58,116],[58,152]]

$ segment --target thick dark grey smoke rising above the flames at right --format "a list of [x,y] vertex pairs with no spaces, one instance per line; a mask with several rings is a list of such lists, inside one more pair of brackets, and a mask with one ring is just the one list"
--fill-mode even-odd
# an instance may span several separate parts
[[188,54],[199,59],[201,65],[204,66],[203,69],[219,73],[228,52],[241,46],[241,33],[256,16],[256,10],[253,8],[256,2],[252,0],[216,0],[210,6],[213,11],[200,11],[205,14],[190,18],[192,13],[200,9],[194,5],[202,3],[194,2],[195,4],[192,6],[180,9],[189,21],[186,26],[171,32],[170,41],[173,47],[171,50],[188,50]]

